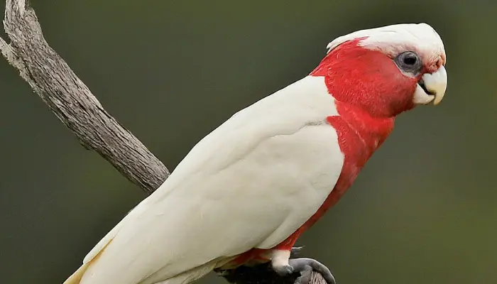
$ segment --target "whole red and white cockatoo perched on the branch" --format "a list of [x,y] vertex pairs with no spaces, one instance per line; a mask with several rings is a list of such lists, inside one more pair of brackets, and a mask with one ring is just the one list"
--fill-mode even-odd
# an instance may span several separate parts
[[261,262],[334,283],[321,263],[289,259],[295,241],[351,186],[395,116],[439,104],[445,62],[426,23],[336,38],[310,75],[202,138],[65,284],[186,284]]

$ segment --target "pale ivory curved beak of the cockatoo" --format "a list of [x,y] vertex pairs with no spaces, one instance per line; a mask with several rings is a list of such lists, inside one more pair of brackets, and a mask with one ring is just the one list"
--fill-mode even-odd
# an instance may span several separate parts
[[414,93],[413,101],[415,104],[433,104],[437,105],[442,102],[447,89],[447,71],[444,66],[440,66],[437,72],[422,75],[420,82]]

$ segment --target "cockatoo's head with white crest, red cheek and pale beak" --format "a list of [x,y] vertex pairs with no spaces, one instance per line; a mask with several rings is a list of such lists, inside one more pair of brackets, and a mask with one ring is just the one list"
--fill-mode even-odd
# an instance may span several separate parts
[[393,117],[418,104],[439,104],[444,97],[444,44],[426,23],[356,31],[327,48],[310,75],[324,76],[338,102],[371,116]]

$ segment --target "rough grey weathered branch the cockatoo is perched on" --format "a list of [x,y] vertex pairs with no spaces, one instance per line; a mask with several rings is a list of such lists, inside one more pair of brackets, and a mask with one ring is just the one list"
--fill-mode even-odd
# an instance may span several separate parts
[[[35,11],[26,0],[6,0],[4,28],[10,43],[0,38],[2,55],[85,148],[97,151],[148,193],[168,178],[165,165],[105,111],[69,65],[50,48]],[[293,284],[297,277],[282,278],[267,264],[218,273],[237,284]],[[319,273],[312,273],[310,284],[325,281]]]

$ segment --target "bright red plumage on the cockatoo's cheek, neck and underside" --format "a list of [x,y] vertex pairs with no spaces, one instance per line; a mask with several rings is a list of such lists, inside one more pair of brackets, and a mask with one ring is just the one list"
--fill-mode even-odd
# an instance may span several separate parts
[[[329,94],[335,98],[339,115],[329,116],[327,121],[337,130],[344,153],[342,172],[320,209],[273,249],[290,250],[300,234],[338,202],[393,130],[395,116],[414,107],[417,80],[403,75],[383,53],[359,46],[360,40],[339,45],[310,73],[324,77]],[[242,253],[233,261],[234,266],[249,260],[268,261],[266,251],[251,249]]]

